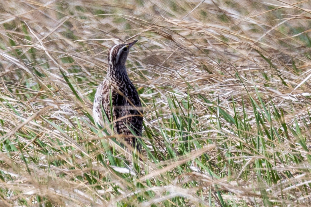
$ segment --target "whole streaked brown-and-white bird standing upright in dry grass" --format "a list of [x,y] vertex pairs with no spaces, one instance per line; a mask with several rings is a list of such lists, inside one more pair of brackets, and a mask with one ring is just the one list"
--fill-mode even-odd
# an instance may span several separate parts
[[124,139],[132,148],[129,151],[141,152],[137,137],[142,136],[142,103],[125,67],[129,49],[136,42],[116,44],[109,49],[107,76],[95,93],[93,117],[101,127],[107,126],[108,118],[118,139]]

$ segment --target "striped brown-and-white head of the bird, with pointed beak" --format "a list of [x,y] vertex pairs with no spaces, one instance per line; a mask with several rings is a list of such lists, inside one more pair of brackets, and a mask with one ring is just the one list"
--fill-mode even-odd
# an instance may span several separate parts
[[126,58],[130,48],[137,42],[121,43],[112,46],[108,51],[108,65],[114,67],[117,65],[125,65]]

